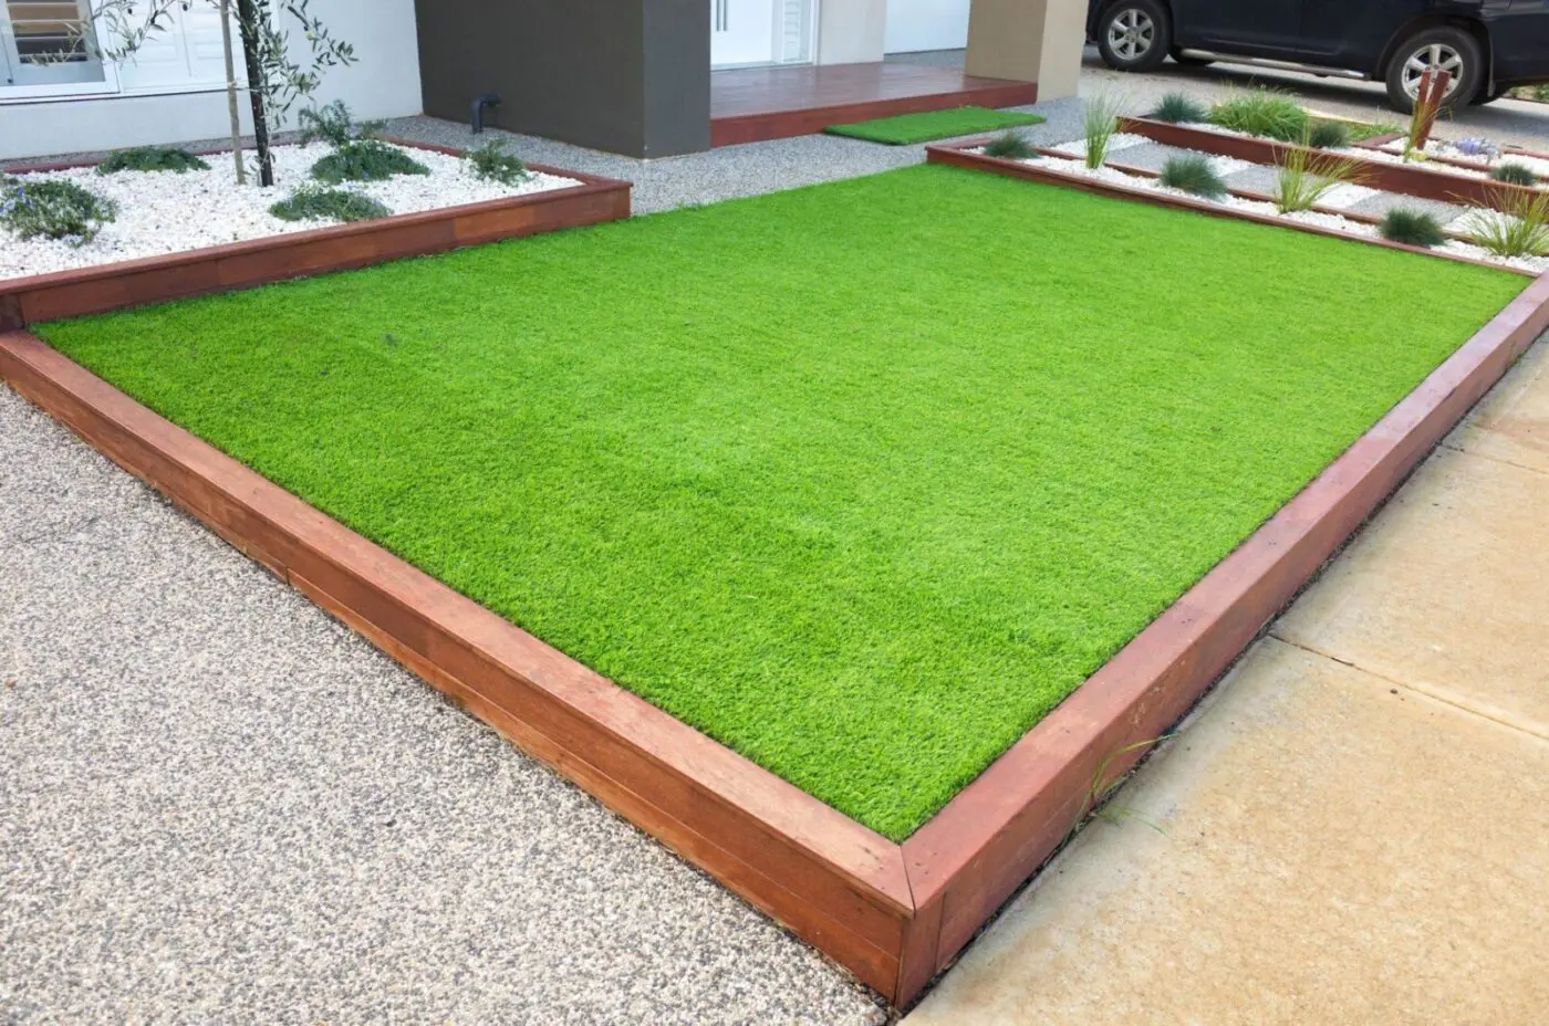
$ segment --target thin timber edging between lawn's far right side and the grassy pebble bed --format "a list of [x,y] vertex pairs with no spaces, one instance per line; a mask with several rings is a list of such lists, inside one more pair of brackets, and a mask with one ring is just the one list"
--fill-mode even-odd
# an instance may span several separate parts
[[[1473,257],[1464,257],[1450,252],[1437,252],[1434,249],[1425,249],[1422,246],[1408,246],[1405,243],[1389,241],[1376,235],[1355,235],[1352,232],[1341,232],[1335,227],[1324,227],[1323,224],[1309,224],[1306,221],[1295,221],[1281,217],[1270,217],[1267,214],[1258,214],[1256,210],[1244,210],[1241,207],[1228,207],[1221,203],[1210,203],[1208,200],[1194,200],[1191,197],[1179,197],[1168,192],[1157,192],[1154,189],[1140,189],[1137,186],[1125,186],[1115,181],[1103,181],[1101,178],[1092,178],[1090,175],[1083,175],[1081,172],[1067,172],[1047,166],[1024,164],[1021,161],[1005,159],[999,156],[985,156],[984,153],[974,153],[974,150],[984,147],[988,139],[970,139],[968,142],[953,142],[950,145],[928,145],[925,147],[925,159],[931,164],[945,164],[948,167],[965,167],[968,170],[988,172],[991,175],[1004,175],[1005,178],[1021,178],[1022,181],[1036,181],[1046,186],[1061,186],[1064,189],[1075,189],[1078,192],[1090,192],[1098,197],[1112,197],[1115,200],[1132,200],[1135,203],[1146,203],[1156,207],[1166,207],[1173,210],[1193,210],[1194,214],[1205,214],[1208,217],[1219,217],[1230,221],[1252,221],[1253,224],[1269,224],[1272,227],[1287,227],[1295,232],[1306,232],[1309,235],[1323,235],[1324,238],[1340,238],[1352,243],[1365,243],[1368,246],[1382,246],[1383,249],[1399,249],[1403,252],[1420,254],[1422,257],[1433,257],[1436,260],[1451,260],[1453,263],[1472,263],[1481,268],[1490,268],[1492,271],[1506,271],[1507,274],[1518,274],[1523,277],[1538,277],[1532,271],[1524,271],[1521,268],[1512,268],[1507,265],[1490,263],[1489,260],[1475,260]],[[1061,156],[1066,156],[1061,153]],[[1146,173],[1135,172],[1132,169],[1125,169],[1131,173]],[[1258,198],[1248,193],[1248,198]],[[1267,198],[1267,197],[1262,197]],[[1334,210],[1324,210],[1334,212]],[[1343,214],[1341,214],[1343,217]]]

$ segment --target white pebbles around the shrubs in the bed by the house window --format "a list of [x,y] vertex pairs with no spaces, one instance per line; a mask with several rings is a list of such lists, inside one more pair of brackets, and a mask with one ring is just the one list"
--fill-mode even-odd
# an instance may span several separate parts
[[[23,180],[34,176],[73,180],[113,200],[118,204],[118,220],[104,224],[96,238],[79,248],[50,238],[22,241],[0,226],[0,280],[327,227],[333,221],[282,221],[270,214],[270,207],[288,197],[296,186],[308,181],[311,166],[330,150],[331,147],[324,142],[276,147],[273,189],[260,189],[251,180],[246,186],[237,186],[229,153],[206,156],[209,170],[181,175],[175,172],[99,175],[94,167],[15,175]],[[393,214],[417,214],[581,184],[572,178],[533,172],[527,181],[507,186],[477,178],[472,166],[463,158],[412,147],[406,147],[406,152],[429,167],[431,173],[397,175],[373,183],[344,183],[338,187],[364,193]]]

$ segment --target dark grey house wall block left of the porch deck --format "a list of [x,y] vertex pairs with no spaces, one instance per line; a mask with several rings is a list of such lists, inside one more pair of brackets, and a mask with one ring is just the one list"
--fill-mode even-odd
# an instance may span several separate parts
[[703,0],[415,0],[424,113],[630,156],[709,149]]

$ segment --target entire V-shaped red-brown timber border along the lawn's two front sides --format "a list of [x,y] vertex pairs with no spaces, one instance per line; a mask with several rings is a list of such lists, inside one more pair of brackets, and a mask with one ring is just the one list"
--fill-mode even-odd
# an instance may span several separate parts
[[[1549,330],[1549,275],[903,845],[624,692],[23,331],[0,379],[434,687],[906,1006]],[[1134,747],[1140,746],[1140,747]]]

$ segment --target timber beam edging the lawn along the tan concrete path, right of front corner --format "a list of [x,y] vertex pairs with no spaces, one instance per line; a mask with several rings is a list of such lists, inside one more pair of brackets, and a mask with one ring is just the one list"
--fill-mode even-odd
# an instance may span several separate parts
[[[1162,737],[1534,339],[1549,275],[1513,300],[1231,556],[903,843],[936,969],[1061,845],[1098,772]],[[929,925],[939,916],[939,925]],[[922,944],[923,947],[923,944]],[[906,946],[911,959],[917,947]],[[905,980],[925,975],[906,964]],[[914,994],[900,987],[900,1001]]]

